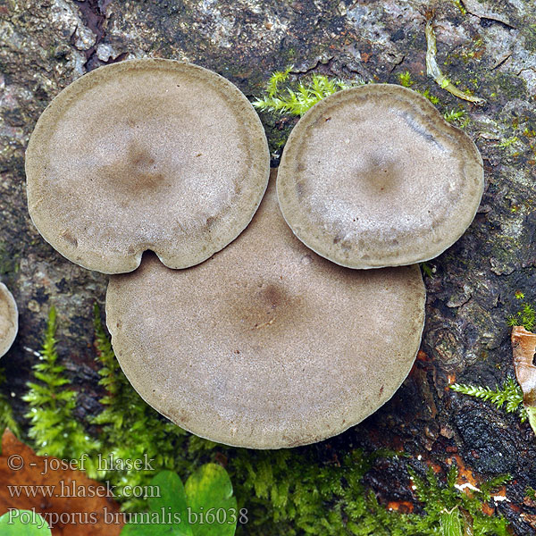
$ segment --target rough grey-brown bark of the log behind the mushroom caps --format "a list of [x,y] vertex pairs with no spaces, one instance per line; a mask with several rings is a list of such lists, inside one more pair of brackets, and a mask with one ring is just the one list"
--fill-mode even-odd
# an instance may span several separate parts
[[[442,71],[486,105],[462,102],[427,79],[424,25],[431,10]],[[536,488],[529,425],[448,389],[455,378],[494,387],[513,373],[506,318],[518,306],[516,290],[536,300],[533,13],[531,0],[1,0],[0,277],[21,312],[20,335],[2,365],[18,415],[31,350],[40,346],[52,305],[60,355],[80,386],[80,415],[99,407],[91,307],[104,303],[106,277],[57,254],[26,209],[24,150],[39,114],[62,88],[103,63],[143,56],[205,66],[248,97],[289,65],[295,73],[391,83],[410,71],[414,88],[439,97],[442,113],[467,112],[465,131],[485,166],[482,205],[464,237],[430,263],[422,351],[403,387],[364,423],[310,448],[331,455],[348,445],[397,448],[435,463],[458,455],[483,477],[511,473],[513,502],[498,509],[515,533],[533,533],[520,517],[536,513],[523,506],[526,487]],[[263,119],[275,165],[292,121]],[[368,481],[381,500],[411,500],[396,460],[381,462]]]

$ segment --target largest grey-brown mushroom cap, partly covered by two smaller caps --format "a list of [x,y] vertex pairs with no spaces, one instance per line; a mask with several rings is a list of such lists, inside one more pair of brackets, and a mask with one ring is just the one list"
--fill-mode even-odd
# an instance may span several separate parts
[[371,415],[409,373],[423,319],[417,266],[363,272],[315,255],[273,185],[213,258],[178,272],[147,255],[106,294],[139,395],[188,431],[247,448],[313,443]]

